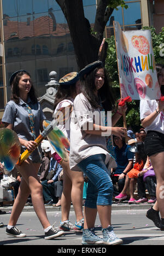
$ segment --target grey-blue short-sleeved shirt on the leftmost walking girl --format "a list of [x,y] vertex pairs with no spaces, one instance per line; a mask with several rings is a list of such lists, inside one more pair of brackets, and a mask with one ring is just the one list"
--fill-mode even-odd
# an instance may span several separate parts
[[[38,137],[40,134],[40,121],[43,121],[46,118],[43,114],[39,102],[33,103],[30,97],[28,97],[27,104],[32,109],[35,120],[36,137]],[[31,132],[30,120],[26,110],[26,103],[21,98],[19,104],[16,104],[14,101],[9,101],[6,104],[2,122],[13,124],[13,130],[16,132],[19,138],[25,139],[26,141],[33,141],[34,138]],[[21,153],[25,150],[26,147],[21,146]],[[34,150],[29,158],[34,162],[39,162],[40,157],[38,150]]]

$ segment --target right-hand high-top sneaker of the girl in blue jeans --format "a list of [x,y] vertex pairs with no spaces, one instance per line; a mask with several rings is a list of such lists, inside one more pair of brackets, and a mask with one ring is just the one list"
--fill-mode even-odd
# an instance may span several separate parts
[[117,237],[113,231],[113,226],[108,226],[107,229],[102,229],[104,245],[121,245],[122,239]]

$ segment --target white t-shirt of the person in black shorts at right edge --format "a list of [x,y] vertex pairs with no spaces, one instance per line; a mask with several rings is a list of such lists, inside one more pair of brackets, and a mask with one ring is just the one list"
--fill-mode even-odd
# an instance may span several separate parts
[[[151,113],[155,111],[158,103],[156,100],[141,100],[140,101],[140,120],[148,117]],[[145,127],[145,131],[158,131],[164,133],[164,112],[161,111],[159,115],[155,118],[153,123]]]

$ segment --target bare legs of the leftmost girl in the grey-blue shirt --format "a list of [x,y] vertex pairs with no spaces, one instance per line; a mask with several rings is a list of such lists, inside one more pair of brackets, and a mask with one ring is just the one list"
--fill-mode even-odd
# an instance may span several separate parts
[[9,219],[9,225],[11,226],[16,225],[30,194],[34,210],[36,211],[43,228],[46,229],[50,226],[44,207],[42,185],[37,176],[39,166],[40,164],[33,164],[33,162],[28,159],[21,165],[21,167],[18,167],[22,179]]

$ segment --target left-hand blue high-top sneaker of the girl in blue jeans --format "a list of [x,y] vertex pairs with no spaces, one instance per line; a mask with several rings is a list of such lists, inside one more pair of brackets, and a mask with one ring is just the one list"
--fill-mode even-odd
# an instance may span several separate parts
[[[92,229],[93,230],[93,229]],[[82,245],[100,245],[103,243],[101,237],[96,236],[91,229],[83,229]]]

